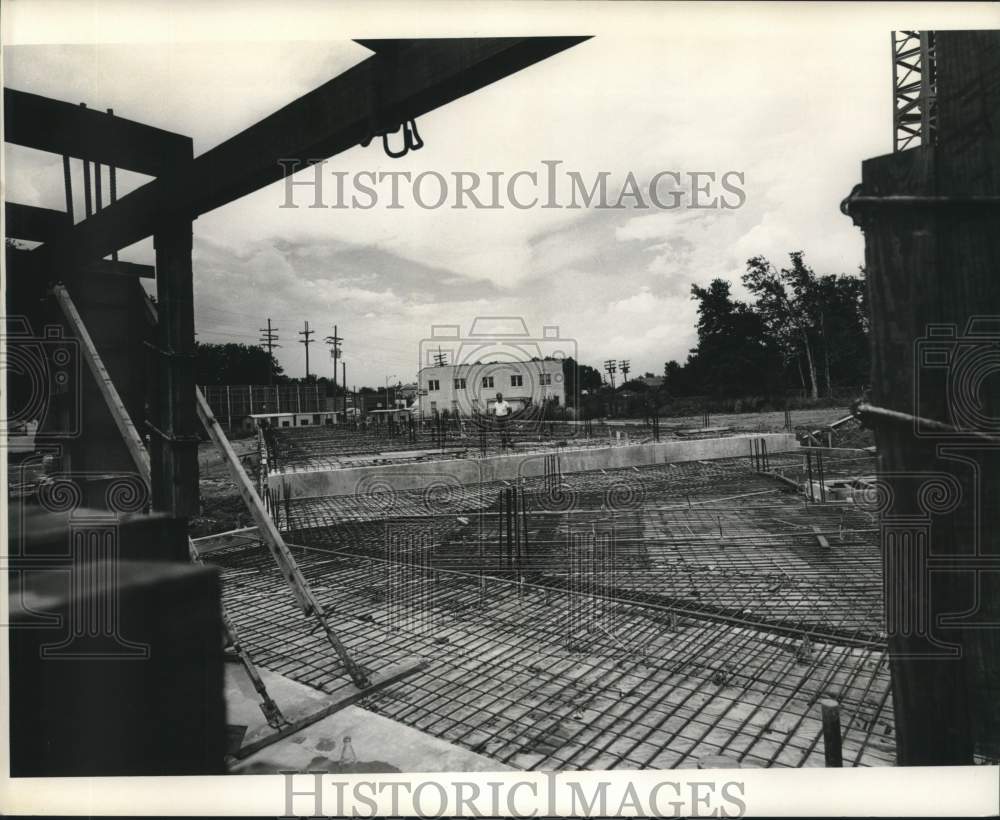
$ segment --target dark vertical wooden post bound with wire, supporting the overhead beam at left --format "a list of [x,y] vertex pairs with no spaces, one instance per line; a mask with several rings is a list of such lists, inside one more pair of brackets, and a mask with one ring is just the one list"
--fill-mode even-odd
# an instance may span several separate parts
[[150,435],[153,508],[183,518],[198,511],[191,221],[164,221],[154,244],[159,390]]

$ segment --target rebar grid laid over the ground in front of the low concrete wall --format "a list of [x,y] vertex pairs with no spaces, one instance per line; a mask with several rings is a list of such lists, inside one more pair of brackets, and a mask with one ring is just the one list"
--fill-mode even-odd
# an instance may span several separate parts
[[[823,765],[834,697],[846,765],[890,764],[874,519],[803,501],[749,456],[547,475],[516,502],[502,482],[302,500],[284,529],[363,666],[431,661],[365,706],[500,762]],[[259,663],[339,685],[267,556],[211,557]]]

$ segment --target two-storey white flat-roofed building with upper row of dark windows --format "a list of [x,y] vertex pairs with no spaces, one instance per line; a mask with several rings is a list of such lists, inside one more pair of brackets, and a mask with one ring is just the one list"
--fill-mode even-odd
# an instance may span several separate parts
[[489,413],[502,393],[514,412],[552,402],[566,404],[562,361],[447,364],[423,368],[418,377],[420,415],[457,410],[463,416]]

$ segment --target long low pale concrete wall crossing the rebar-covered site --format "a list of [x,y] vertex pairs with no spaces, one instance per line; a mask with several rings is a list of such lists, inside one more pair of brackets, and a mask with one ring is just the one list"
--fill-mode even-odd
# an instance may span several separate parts
[[516,481],[519,478],[541,476],[546,471],[546,459],[553,456],[558,459],[559,471],[563,474],[641,467],[676,461],[749,456],[750,441],[753,439],[764,439],[769,453],[800,449],[795,436],[790,433],[761,433],[691,441],[661,441],[622,447],[560,448],[547,452],[492,456],[484,459],[442,459],[410,464],[379,464],[339,470],[279,473],[272,475],[268,483],[274,497],[279,501],[285,498],[419,490],[433,486]]

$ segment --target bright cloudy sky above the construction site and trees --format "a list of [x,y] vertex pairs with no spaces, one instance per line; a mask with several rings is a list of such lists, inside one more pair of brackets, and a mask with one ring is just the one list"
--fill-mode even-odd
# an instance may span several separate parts
[[[137,43],[112,25],[108,3],[90,4],[102,13],[76,32],[63,29],[59,44],[7,48],[4,83],[188,134],[197,155],[366,59],[350,37],[414,33],[399,29],[398,15],[382,28],[373,23],[394,19],[384,4],[364,18],[296,25],[269,23],[274,6],[223,3],[198,25],[184,4],[165,11],[151,3],[165,16],[159,33],[155,15],[133,21],[145,40]],[[633,373],[661,373],[694,341],[692,283],[735,282],[757,254],[780,261],[804,250],[821,272],[861,264],[861,233],[838,206],[859,181],[861,160],[891,150],[889,31],[910,27],[912,14],[894,22],[904,4],[870,12],[852,5],[850,13],[788,4],[780,14],[620,7],[575,23],[545,17],[548,7],[499,22],[483,7],[456,20],[449,10],[458,8],[431,7],[420,33],[595,36],[422,117],[425,147],[403,159],[387,158],[377,142],[334,157],[325,169],[331,185],[335,171],[349,175],[348,186],[359,171],[506,179],[559,160],[588,181],[609,172],[615,195],[630,172],[645,185],[659,171],[738,171],[743,207],[641,209],[627,200],[624,209],[459,210],[407,201],[387,209],[383,196],[368,210],[283,209],[284,183],[276,183],[195,223],[200,341],[255,342],[270,317],[286,372],[302,375],[295,340],[303,321],[320,337],[336,324],[348,381],[374,385],[412,379],[435,324],[467,329],[476,316],[522,316],[534,333],[558,325],[584,362],[628,358]],[[257,26],[243,35],[248,18]],[[31,31],[27,23],[14,29]],[[109,32],[116,36],[102,37]],[[88,37],[97,42],[73,42]],[[63,206],[57,157],[8,146],[5,159],[8,199]],[[123,173],[119,191],[144,181]],[[434,186],[427,190],[433,199]],[[299,192],[296,201],[309,197]],[[151,262],[151,242],[122,256]],[[329,375],[321,348],[311,348],[312,369]]]

